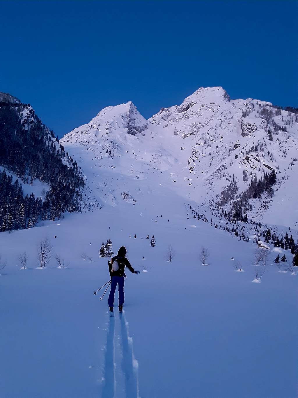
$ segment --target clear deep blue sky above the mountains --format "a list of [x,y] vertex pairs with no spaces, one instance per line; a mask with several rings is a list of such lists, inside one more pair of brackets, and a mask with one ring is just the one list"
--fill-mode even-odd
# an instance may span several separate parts
[[298,106],[297,1],[0,0],[0,91],[61,137],[133,101],[150,117],[201,86]]

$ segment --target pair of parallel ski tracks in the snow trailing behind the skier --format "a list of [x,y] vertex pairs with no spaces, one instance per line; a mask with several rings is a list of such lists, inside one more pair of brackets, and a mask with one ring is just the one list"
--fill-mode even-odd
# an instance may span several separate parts
[[133,341],[128,333],[124,311],[119,314],[120,322],[115,318],[110,316],[106,336],[102,398],[140,398],[139,364],[134,357]]

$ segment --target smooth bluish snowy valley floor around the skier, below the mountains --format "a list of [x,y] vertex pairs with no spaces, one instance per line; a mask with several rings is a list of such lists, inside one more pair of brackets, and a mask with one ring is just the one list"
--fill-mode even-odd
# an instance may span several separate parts
[[[252,283],[255,244],[203,222],[194,227],[182,217],[185,209],[145,217],[124,203],[0,234],[7,260],[0,276],[1,397],[296,397],[298,275],[279,273],[272,252],[262,282]],[[154,234],[154,248],[147,234]],[[36,268],[37,243],[46,235],[67,269],[54,259]],[[126,246],[141,271],[126,272],[122,318],[117,294],[115,318],[107,313],[108,292],[103,301],[93,295],[109,280],[107,259],[98,256],[108,238],[114,251]],[[172,263],[164,260],[168,244],[176,251]],[[201,246],[209,248],[209,266],[199,261]],[[21,270],[24,250],[29,263]],[[83,252],[93,262],[83,261]],[[234,271],[231,257],[245,272]]]

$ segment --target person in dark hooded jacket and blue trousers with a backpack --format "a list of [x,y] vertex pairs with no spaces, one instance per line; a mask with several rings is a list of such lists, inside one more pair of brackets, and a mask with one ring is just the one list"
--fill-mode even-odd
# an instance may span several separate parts
[[118,250],[117,256],[112,258],[112,261],[109,262],[109,271],[111,276],[111,290],[108,295],[108,306],[110,312],[114,311],[114,297],[115,291],[118,284],[119,291],[119,312],[122,312],[122,306],[124,303],[124,277],[126,277],[124,273],[124,268],[127,267],[130,272],[139,274],[140,271],[135,271],[134,268],[130,265],[130,262],[125,257],[126,256],[126,248],[121,246]]

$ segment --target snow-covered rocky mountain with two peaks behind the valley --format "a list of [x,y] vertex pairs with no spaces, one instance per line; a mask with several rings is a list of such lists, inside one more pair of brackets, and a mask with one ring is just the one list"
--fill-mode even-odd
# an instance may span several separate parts
[[[226,220],[219,213],[229,211],[252,180],[274,171],[274,195],[266,190],[249,197],[252,206],[243,209],[243,216],[294,227],[296,111],[265,101],[231,100],[221,87],[199,88],[181,105],[162,108],[147,121],[132,102],[107,107],[60,142],[85,173],[85,207],[116,205],[124,191],[135,203],[159,184],[168,189],[167,200],[176,193],[197,204],[199,213],[208,213],[209,221],[210,215],[219,219],[213,224],[223,228]],[[135,182],[140,180],[145,182]]]

